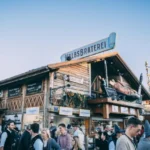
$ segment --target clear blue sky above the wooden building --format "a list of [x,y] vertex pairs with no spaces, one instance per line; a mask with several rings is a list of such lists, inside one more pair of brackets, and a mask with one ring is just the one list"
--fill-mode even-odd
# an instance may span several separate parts
[[149,14],[149,0],[0,0],[0,80],[116,32],[115,50],[147,86]]

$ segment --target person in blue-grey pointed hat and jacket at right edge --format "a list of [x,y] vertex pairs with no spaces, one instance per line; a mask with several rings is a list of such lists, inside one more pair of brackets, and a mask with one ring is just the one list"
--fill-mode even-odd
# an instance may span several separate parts
[[145,121],[144,131],[145,138],[140,139],[138,150],[150,150],[150,124],[147,120]]

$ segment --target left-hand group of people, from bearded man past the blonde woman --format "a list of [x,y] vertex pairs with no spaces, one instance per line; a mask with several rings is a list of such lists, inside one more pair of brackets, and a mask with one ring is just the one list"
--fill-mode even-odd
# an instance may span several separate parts
[[14,121],[9,121],[1,134],[0,150],[85,150],[84,133],[78,124],[67,128],[61,123],[58,129],[53,122],[50,124],[50,129],[43,128],[40,131],[39,124],[33,123],[20,135],[15,130]]

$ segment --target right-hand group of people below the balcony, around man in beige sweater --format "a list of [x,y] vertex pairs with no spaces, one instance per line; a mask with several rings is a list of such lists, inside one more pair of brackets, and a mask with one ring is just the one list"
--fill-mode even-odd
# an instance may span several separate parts
[[95,150],[150,150],[150,124],[146,120],[143,126],[138,118],[132,117],[126,130],[117,125],[114,130],[99,128],[95,139]]

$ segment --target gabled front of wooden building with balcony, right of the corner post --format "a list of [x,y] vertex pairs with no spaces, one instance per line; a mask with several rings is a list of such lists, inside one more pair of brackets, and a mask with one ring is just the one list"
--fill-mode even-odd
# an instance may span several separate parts
[[[87,133],[91,131],[93,123],[112,124],[114,122],[124,128],[126,119],[130,116],[143,119],[141,102],[150,98],[143,86],[140,89],[139,101],[141,102],[124,99],[124,96],[109,97],[103,94],[99,78],[107,80],[108,87],[110,81],[116,81],[120,83],[121,88],[125,89],[125,92],[138,95],[139,80],[117,52],[103,53],[48,66],[52,70],[50,77],[51,105],[48,108],[50,119],[59,116],[58,123],[60,123],[60,116],[77,118],[77,121],[79,119],[84,122]],[[67,77],[69,79],[66,79]],[[67,86],[68,83],[70,86]],[[110,89],[113,88],[111,86]],[[60,114],[61,107],[72,108],[72,113],[68,116]],[[90,116],[81,116],[81,110],[89,110]],[[72,120],[75,121],[75,119]]]

